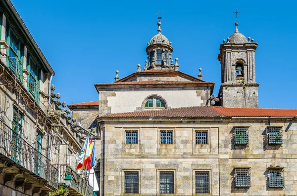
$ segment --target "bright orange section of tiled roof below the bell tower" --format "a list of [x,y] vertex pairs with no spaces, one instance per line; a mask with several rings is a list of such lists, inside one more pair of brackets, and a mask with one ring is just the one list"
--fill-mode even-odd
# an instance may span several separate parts
[[214,107],[225,117],[295,117],[297,109],[270,109],[270,108],[224,108]]

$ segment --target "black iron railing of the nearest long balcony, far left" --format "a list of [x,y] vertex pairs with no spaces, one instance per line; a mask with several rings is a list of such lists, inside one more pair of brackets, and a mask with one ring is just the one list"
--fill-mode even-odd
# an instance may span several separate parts
[[40,176],[49,186],[57,188],[58,171],[50,164],[49,158],[38,152],[2,120],[0,120],[0,155],[12,160],[20,169]]

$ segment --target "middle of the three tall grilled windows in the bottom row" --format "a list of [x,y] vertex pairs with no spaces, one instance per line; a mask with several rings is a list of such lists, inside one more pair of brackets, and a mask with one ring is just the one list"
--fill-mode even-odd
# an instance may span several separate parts
[[174,193],[174,173],[160,172],[160,194]]

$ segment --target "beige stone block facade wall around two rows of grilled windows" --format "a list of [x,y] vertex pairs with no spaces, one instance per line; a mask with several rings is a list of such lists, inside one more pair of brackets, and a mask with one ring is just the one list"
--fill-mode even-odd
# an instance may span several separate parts
[[[160,118],[100,121],[102,131],[101,190],[123,196],[125,172],[139,173],[139,195],[161,195],[160,172],[174,172],[174,196],[195,194],[195,172],[209,172],[213,196],[279,196],[297,194],[296,119],[232,118],[221,120]],[[166,122],[165,122],[166,121]],[[165,122],[165,123],[164,123]],[[281,127],[283,143],[267,143],[268,127]],[[234,128],[247,127],[248,144],[235,147]],[[125,131],[138,132],[138,144],[125,144]],[[173,144],[160,144],[160,131],[173,132]],[[196,144],[196,131],[207,133],[207,144]],[[248,168],[250,186],[234,186],[234,170]],[[269,169],[284,171],[284,188],[269,188]]]

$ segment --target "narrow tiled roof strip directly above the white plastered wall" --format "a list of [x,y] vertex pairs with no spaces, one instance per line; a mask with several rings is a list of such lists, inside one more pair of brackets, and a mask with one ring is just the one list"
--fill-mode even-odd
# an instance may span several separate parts
[[127,84],[199,84],[209,83],[205,81],[165,81],[165,80],[149,80],[149,81],[124,81],[113,83],[98,83],[95,85],[127,85]]

